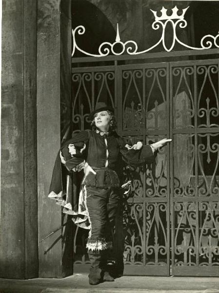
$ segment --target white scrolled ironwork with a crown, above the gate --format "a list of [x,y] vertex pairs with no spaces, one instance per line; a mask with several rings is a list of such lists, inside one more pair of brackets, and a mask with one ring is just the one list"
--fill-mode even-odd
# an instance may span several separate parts
[[[160,17],[157,15],[157,11],[150,9],[155,17],[155,21],[152,23],[152,28],[154,30],[158,30],[159,28],[162,28],[162,33],[161,33],[161,37],[160,37],[159,41],[156,44],[154,44],[150,48],[147,48],[143,51],[138,51],[138,44],[135,41],[121,42],[120,36],[119,36],[119,25],[117,23],[117,36],[116,36],[115,42],[113,42],[113,43],[102,42],[99,46],[99,50],[98,50],[99,54],[91,54],[89,52],[86,52],[86,51],[82,50],[77,45],[77,42],[76,42],[76,34],[83,35],[85,33],[85,27],[83,25],[79,25],[75,29],[72,29],[72,36],[73,36],[72,56],[74,56],[76,49],[79,50],[80,52],[82,52],[83,54],[88,55],[88,56],[92,56],[92,57],[104,57],[109,54],[122,55],[123,53],[126,53],[128,55],[139,55],[139,54],[143,54],[143,53],[146,53],[146,52],[153,50],[159,44],[162,44],[165,51],[170,52],[174,48],[176,42],[181,44],[182,46],[188,48],[188,49],[193,49],[193,50],[210,49],[210,48],[212,48],[213,45],[215,45],[217,48],[219,48],[219,33],[216,36],[205,35],[204,37],[202,37],[202,39],[200,41],[200,47],[190,46],[188,44],[181,42],[178,39],[177,33],[176,33],[176,28],[177,28],[177,26],[179,28],[185,28],[187,26],[187,21],[184,20],[184,15],[185,15],[185,12],[188,8],[189,8],[189,6],[186,7],[185,9],[182,9],[182,14],[178,15],[179,9],[177,8],[177,6],[175,6],[172,9],[172,14],[170,16],[168,16],[166,13],[167,9],[162,7],[162,9],[160,10],[160,12],[161,12]],[[172,39],[173,41],[172,41],[172,44],[170,45],[169,48],[167,48],[165,40],[164,40],[165,30],[166,30],[166,26],[168,23],[170,23],[173,28],[173,39]],[[117,45],[117,44],[120,44],[120,46],[121,46],[120,52],[115,51],[115,45]]]

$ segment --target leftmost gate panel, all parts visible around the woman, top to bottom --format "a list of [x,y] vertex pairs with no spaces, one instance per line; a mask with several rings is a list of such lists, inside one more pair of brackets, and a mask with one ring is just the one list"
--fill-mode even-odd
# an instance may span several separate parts
[[[117,108],[115,66],[72,68],[72,128],[73,133],[90,129],[89,113],[98,102]],[[74,173],[74,192],[80,191],[83,171]],[[69,178],[72,180],[73,178]],[[90,261],[86,249],[88,230],[74,225],[74,273],[88,272]]]

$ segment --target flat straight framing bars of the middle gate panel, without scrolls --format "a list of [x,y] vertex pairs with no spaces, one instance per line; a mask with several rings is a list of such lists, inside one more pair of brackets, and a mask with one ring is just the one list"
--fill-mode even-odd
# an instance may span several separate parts
[[[141,109],[142,112],[142,117],[143,117],[143,123],[144,126],[142,129],[139,129],[139,131],[137,129],[135,130],[125,130],[122,127],[122,121],[123,121],[123,117],[121,115],[118,116],[118,133],[121,136],[136,136],[136,135],[140,135],[143,136],[143,142],[146,142],[146,135],[148,135],[149,133],[151,135],[165,135],[168,136],[168,132],[169,132],[169,113],[168,113],[168,104],[169,104],[169,84],[168,84],[168,76],[169,76],[169,66],[168,63],[143,63],[143,64],[127,64],[127,65],[118,65],[118,84],[120,86],[118,86],[118,90],[119,90],[119,94],[118,96],[120,97],[119,101],[118,101],[118,108],[122,109],[122,71],[123,70],[140,70],[142,71],[142,103],[143,103],[143,107],[145,109],[146,106],[146,94],[145,94],[145,70],[146,69],[155,69],[155,68],[165,68],[166,70],[166,78],[165,78],[165,110],[167,110],[166,112],[166,116],[167,116],[167,122],[166,122],[166,129],[165,130],[147,130],[146,129],[146,117],[145,117],[145,113],[143,112],[143,109]],[[167,151],[167,176],[169,176],[168,173],[168,161],[169,161],[169,152]],[[128,199],[129,203],[132,204],[136,204],[136,203],[142,203],[143,206],[143,244],[142,244],[142,250],[143,250],[143,264],[142,265],[125,265],[124,268],[124,273],[125,274],[138,274],[138,275],[169,275],[170,274],[170,270],[169,270],[169,266],[170,266],[170,257],[169,257],[169,192],[170,190],[170,186],[169,186],[169,181],[167,180],[167,196],[166,197],[146,197],[146,173],[143,173],[143,197],[142,198],[133,198],[133,199]],[[166,243],[166,254],[165,254],[165,265],[148,265],[146,263],[146,204],[148,203],[166,203],[166,222],[167,222],[167,227],[166,227],[166,238],[167,238],[167,243]]]

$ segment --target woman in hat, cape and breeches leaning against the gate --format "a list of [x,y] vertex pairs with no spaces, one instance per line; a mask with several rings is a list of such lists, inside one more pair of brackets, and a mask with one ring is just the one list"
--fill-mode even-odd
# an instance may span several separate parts
[[[107,272],[107,253],[112,249],[111,228],[121,201],[119,158],[130,166],[154,162],[154,152],[170,139],[153,145],[134,146],[125,143],[115,131],[113,108],[97,103],[90,114],[93,130],[81,131],[61,146],[57,156],[49,197],[63,206],[63,212],[73,215],[76,225],[89,229],[86,247],[91,268],[89,283],[113,281]],[[68,179],[63,173],[84,170],[77,208],[72,207]],[[68,176],[67,176],[68,178]]]

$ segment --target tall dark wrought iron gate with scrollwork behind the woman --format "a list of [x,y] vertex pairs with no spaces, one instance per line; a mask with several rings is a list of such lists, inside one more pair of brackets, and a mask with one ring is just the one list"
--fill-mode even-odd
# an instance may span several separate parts
[[[75,132],[89,128],[90,110],[104,101],[127,141],[173,139],[156,164],[126,169],[132,187],[123,210],[124,272],[219,276],[218,59],[116,61],[72,74]],[[75,271],[89,264],[85,238],[76,229]]]

